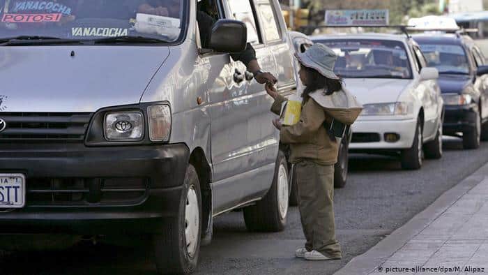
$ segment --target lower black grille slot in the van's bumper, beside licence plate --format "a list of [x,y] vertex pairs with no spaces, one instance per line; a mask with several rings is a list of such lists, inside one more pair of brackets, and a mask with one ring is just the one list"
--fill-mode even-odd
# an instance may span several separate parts
[[148,196],[148,180],[27,179],[28,207],[99,207],[139,205]]

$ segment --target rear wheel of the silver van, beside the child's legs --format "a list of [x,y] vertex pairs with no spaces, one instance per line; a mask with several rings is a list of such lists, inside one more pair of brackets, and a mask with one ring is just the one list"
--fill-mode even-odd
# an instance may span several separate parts
[[244,221],[247,230],[277,232],[287,223],[289,203],[287,159],[280,151],[276,160],[275,177],[268,193],[262,200],[245,207]]

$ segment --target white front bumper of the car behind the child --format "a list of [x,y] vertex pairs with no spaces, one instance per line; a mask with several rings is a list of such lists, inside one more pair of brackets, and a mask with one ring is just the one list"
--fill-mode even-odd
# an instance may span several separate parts
[[[398,150],[410,148],[415,136],[417,119],[359,120],[353,124],[353,137],[349,149]],[[395,134],[398,140],[387,142],[386,134]]]

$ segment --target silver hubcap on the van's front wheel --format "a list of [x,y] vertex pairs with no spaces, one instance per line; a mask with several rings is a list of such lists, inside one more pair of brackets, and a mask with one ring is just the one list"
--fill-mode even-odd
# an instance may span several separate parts
[[195,255],[198,244],[198,230],[200,228],[200,215],[197,192],[193,186],[188,189],[185,205],[185,239],[186,249],[190,257]]

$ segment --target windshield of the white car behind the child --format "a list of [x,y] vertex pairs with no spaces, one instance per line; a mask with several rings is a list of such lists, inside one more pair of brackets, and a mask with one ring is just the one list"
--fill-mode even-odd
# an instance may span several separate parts
[[338,58],[334,71],[344,78],[411,78],[404,44],[391,40],[322,40]]

